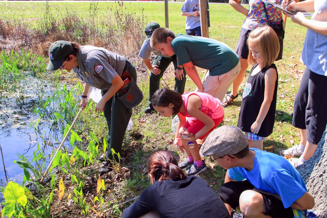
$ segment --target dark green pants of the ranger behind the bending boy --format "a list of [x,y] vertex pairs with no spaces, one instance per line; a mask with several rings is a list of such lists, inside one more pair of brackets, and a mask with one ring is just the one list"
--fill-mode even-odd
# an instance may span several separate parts
[[[159,64],[160,61],[160,64]],[[164,71],[166,71],[169,64],[173,62],[174,69],[177,69],[177,57],[173,55],[171,57],[156,56],[152,62],[152,65],[158,65],[161,70],[160,74],[155,75],[150,73],[149,76],[149,100],[148,103],[152,103],[152,95],[160,88],[160,79],[163,77]],[[184,77],[182,80],[178,80],[175,76],[175,92],[180,94],[184,93],[185,82],[186,82],[186,71],[183,69]]]

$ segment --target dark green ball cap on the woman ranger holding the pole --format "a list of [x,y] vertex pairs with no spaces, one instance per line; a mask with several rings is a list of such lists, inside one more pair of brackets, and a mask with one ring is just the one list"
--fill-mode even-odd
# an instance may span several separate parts
[[67,41],[56,41],[50,45],[49,59],[47,70],[58,70],[61,64],[65,61],[65,57],[73,50],[72,44]]

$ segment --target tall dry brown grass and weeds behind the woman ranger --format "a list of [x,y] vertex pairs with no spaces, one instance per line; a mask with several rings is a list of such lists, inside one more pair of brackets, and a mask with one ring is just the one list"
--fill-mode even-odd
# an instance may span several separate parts
[[80,17],[71,13],[54,18],[46,9],[38,29],[30,29],[22,22],[0,20],[0,51],[22,48],[34,54],[48,55],[51,43],[58,40],[74,41],[80,45],[95,45],[126,57],[137,55],[144,39],[145,17],[124,12],[123,3],[110,12],[105,20],[97,20],[97,3],[90,4],[89,14]]

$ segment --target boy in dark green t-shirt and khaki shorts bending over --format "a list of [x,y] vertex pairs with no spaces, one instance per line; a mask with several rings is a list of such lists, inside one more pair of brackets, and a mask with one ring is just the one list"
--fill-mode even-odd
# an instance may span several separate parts
[[[197,85],[197,91],[208,93],[220,101],[241,69],[235,52],[228,45],[214,39],[182,34],[176,37],[170,29],[158,28],[152,33],[150,45],[163,55],[176,54],[178,67],[185,68]],[[209,70],[203,82],[195,66]]]

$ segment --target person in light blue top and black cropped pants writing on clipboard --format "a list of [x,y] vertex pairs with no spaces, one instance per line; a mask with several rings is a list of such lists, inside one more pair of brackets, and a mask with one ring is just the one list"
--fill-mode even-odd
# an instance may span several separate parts
[[301,62],[306,66],[294,100],[292,125],[301,129],[301,143],[280,152],[292,155],[297,167],[314,155],[327,124],[327,0],[294,2],[283,0],[287,10],[315,11],[311,20],[302,12],[284,12],[294,23],[307,27]]

